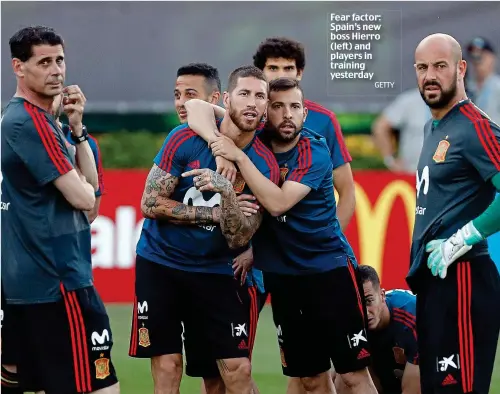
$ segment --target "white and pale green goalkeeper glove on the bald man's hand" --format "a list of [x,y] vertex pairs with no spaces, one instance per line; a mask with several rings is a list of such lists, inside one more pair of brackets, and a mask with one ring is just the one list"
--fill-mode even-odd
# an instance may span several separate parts
[[425,245],[425,251],[430,253],[427,267],[431,270],[432,275],[439,275],[441,279],[444,279],[448,267],[483,239],[483,236],[470,221],[450,238],[430,241]]

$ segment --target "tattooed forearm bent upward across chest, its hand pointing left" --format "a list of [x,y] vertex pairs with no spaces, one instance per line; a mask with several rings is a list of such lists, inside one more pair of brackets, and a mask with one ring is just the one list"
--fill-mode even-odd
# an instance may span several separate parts
[[213,191],[221,195],[220,228],[230,248],[245,246],[262,223],[262,212],[245,216],[239,207],[239,201],[233,185],[222,175],[209,169],[192,170],[183,176],[197,175],[193,182],[200,191]]

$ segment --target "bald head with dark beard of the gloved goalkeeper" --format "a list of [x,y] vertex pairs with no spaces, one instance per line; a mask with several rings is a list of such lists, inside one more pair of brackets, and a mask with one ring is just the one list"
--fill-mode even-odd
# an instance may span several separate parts
[[415,50],[418,88],[432,109],[448,108],[465,97],[466,68],[460,44],[447,34],[427,36]]

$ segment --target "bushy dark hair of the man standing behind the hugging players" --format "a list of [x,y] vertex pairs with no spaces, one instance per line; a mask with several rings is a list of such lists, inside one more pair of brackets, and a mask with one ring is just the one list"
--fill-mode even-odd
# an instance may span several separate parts
[[295,65],[299,70],[303,70],[306,66],[304,46],[286,37],[271,37],[262,41],[253,55],[253,64],[263,70],[267,59],[279,57],[295,60]]

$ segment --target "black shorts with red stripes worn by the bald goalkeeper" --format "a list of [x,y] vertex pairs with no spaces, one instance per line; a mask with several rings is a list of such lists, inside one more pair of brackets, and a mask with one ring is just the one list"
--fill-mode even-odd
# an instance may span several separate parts
[[417,293],[422,393],[487,394],[500,329],[500,278],[489,256],[453,263]]

